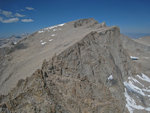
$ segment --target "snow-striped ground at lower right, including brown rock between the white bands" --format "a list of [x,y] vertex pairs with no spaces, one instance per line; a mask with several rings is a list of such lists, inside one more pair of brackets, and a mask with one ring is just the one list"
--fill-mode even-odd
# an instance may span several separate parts
[[[139,82],[137,79],[142,81]],[[150,87],[147,87],[143,84],[145,81],[150,82],[150,78],[142,73],[141,75],[136,75],[135,77],[128,77],[128,80],[129,81],[124,82],[124,95],[127,102],[126,107],[128,108],[129,112],[134,113],[134,110],[145,110],[150,112],[150,105],[143,106],[138,104],[143,102],[141,98],[148,98],[146,101],[150,101]]]

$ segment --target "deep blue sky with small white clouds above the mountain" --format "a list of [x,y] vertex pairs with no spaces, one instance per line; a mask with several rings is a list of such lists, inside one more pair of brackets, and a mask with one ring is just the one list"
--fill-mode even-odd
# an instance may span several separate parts
[[0,0],[0,37],[91,17],[122,33],[150,33],[150,0]]

